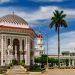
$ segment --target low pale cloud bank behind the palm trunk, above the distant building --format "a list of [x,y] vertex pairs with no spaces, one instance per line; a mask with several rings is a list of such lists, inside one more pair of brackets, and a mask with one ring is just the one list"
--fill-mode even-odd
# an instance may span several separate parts
[[[75,49],[75,31],[61,33],[60,35],[60,48],[62,51],[74,51]],[[58,53],[57,35],[49,38],[49,54]]]

